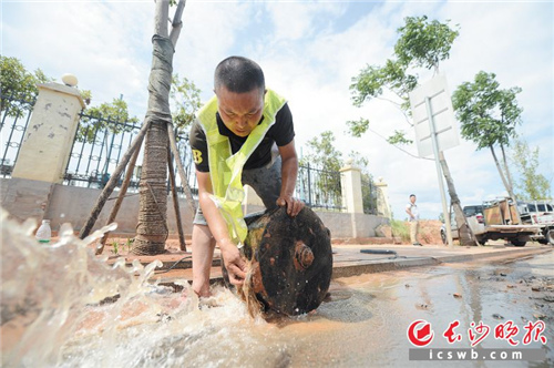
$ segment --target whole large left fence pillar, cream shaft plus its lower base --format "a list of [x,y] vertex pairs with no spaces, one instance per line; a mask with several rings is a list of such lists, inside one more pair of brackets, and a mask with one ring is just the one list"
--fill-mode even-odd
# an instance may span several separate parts
[[[76,82],[75,82],[76,84]],[[55,184],[63,182],[83,99],[74,88],[38,84],[39,95],[11,178],[2,181],[0,204],[19,221],[39,222]]]

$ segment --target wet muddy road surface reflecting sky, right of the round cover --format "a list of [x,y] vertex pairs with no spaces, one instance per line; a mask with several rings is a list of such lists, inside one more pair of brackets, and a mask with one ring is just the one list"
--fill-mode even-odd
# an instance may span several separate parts
[[[340,333],[310,344],[330,358],[320,361],[324,366],[553,367],[554,253],[515,262],[485,259],[340,278],[332,284],[331,301],[318,314],[318,318],[345,324]],[[544,359],[411,361],[409,350],[417,347],[409,341],[408,328],[419,319],[430,325],[433,335],[432,341],[422,347],[425,349],[503,349],[511,354],[511,349],[533,348],[541,349]],[[460,340],[449,344],[443,334],[455,321],[453,330]],[[530,323],[533,338],[524,345]],[[511,337],[515,347],[502,338],[514,327],[519,330]],[[421,340],[431,336],[424,330],[421,335]]]

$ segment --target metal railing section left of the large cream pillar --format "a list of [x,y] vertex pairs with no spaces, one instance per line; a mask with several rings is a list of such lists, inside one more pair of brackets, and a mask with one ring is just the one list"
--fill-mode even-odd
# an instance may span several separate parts
[[37,95],[2,94],[0,91],[0,175],[11,177]]

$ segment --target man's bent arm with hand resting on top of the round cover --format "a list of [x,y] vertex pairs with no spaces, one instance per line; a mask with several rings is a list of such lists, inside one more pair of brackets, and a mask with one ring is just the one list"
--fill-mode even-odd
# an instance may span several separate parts
[[296,186],[296,177],[298,176],[298,156],[296,155],[295,140],[279,147],[281,157],[281,187],[278,206],[287,206],[287,213],[290,216],[296,216],[304,208],[304,202],[293,197]]

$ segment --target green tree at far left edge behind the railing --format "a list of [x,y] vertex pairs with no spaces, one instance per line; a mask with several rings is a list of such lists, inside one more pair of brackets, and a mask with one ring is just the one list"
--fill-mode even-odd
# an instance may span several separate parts
[[37,69],[31,73],[19,59],[0,55],[0,111],[6,111],[9,116],[17,116],[24,110],[31,110],[32,105],[8,103],[8,98],[31,102],[39,92],[37,83],[51,81],[53,79],[48,78],[42,70]]

